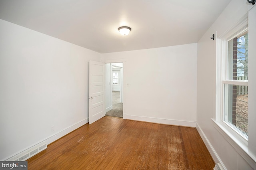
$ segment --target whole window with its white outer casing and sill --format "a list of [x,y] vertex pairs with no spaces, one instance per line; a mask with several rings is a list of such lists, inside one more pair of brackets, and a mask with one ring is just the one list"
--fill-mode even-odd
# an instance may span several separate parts
[[256,162],[255,14],[256,8],[251,8],[226,32],[216,33],[216,115],[212,119],[216,130],[252,167]]

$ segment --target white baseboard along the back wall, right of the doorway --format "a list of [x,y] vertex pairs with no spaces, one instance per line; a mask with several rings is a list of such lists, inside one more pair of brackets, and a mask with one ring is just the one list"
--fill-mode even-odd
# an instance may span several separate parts
[[135,115],[126,115],[125,119],[130,119],[134,121],[143,121],[143,122],[151,122],[151,123],[160,123],[166,125],[176,125],[176,126],[184,126],[184,127],[196,127],[196,122],[190,121],[177,121],[172,119],[162,119],[155,117],[144,117],[144,116],[135,116]]

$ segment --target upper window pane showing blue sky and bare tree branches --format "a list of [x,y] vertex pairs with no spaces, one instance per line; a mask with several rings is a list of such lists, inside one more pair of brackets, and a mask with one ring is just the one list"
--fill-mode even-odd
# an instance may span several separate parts
[[248,80],[248,32],[228,41],[228,79]]

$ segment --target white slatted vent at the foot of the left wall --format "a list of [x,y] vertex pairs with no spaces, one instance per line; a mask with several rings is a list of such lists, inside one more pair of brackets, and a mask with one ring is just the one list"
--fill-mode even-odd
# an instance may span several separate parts
[[31,148],[28,148],[27,150],[24,150],[19,154],[16,154],[15,156],[12,156],[6,161],[24,161],[24,160],[27,160],[28,158],[31,158],[35,154],[38,154],[39,152],[45,150],[46,148],[47,148],[47,144],[45,142],[42,142]]

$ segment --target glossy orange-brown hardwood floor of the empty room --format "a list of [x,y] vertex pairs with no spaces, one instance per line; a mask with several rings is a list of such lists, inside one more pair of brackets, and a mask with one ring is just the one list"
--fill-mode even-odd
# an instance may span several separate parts
[[103,117],[28,159],[28,170],[212,170],[196,128]]

